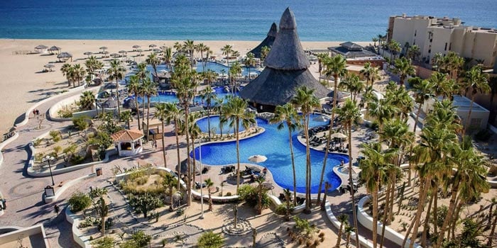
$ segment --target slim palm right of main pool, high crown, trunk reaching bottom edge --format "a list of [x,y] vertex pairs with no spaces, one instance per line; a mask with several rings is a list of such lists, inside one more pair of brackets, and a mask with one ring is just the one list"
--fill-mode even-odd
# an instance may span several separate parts
[[[337,112],[339,115],[339,119],[342,121],[342,125],[347,130],[347,136],[349,140],[349,186],[351,188],[351,196],[352,196],[352,205],[356,205],[356,200],[354,197],[354,184],[352,183],[352,125],[357,123],[361,116],[361,112],[357,107],[356,103],[347,99],[342,108],[334,108],[334,112]],[[357,229],[357,216],[356,216],[356,208],[352,208],[352,215],[354,216],[354,227]],[[356,240],[359,240],[359,230],[356,232]],[[358,242],[358,247],[360,248],[360,244]]]

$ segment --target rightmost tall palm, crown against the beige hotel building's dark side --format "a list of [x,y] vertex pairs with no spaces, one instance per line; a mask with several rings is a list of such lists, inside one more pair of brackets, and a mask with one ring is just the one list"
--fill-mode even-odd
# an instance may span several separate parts
[[469,128],[469,123],[471,123],[471,111],[473,110],[474,97],[477,93],[487,94],[490,92],[490,86],[488,86],[488,74],[481,72],[481,67],[473,67],[466,72],[464,77],[464,81],[467,82],[467,85],[472,89],[471,91],[471,105],[469,106],[468,117],[464,122],[464,132],[467,128]]

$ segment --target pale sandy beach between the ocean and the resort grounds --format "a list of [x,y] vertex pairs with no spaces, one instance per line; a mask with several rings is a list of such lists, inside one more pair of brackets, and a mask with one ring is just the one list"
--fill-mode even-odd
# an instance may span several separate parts
[[[263,37],[261,37],[263,40]],[[148,45],[172,47],[175,42],[183,40],[13,40],[0,39],[0,131],[6,133],[9,128],[16,123],[16,118],[23,118],[23,113],[38,101],[53,94],[64,91],[67,88],[67,81],[60,72],[62,62],[58,62],[57,55],[49,54],[28,54],[34,52],[37,45],[53,45],[61,47],[62,52],[70,52],[73,55],[72,64],[84,64],[87,58],[84,52],[98,53],[99,47],[108,47],[110,53],[119,50],[132,51],[133,45],[140,45],[143,50],[142,57],[132,57],[137,52],[129,52],[128,57],[137,62],[145,60],[150,53]],[[226,44],[232,45],[234,50],[244,55],[260,41],[241,40],[195,40],[195,43],[204,43],[209,46],[214,55],[221,55],[221,47]],[[336,46],[342,42],[302,42],[305,50],[326,49],[326,47]],[[359,43],[368,45],[369,42]],[[97,55],[101,57],[101,55]],[[111,60],[111,58],[105,58]],[[70,62],[70,61],[68,61]],[[53,64],[53,72],[43,72],[45,64]]]

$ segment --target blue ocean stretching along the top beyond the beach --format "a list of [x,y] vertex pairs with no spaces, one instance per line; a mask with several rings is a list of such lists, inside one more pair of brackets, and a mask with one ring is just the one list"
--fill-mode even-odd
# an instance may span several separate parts
[[497,0],[2,0],[0,38],[262,40],[287,6],[305,41],[368,41],[402,13],[497,28]]

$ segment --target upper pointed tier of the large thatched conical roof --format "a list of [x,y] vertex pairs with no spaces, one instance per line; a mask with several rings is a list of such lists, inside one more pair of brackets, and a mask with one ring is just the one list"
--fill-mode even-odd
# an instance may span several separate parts
[[285,9],[281,16],[280,30],[264,62],[266,67],[273,69],[293,70],[310,67],[298,38],[295,15],[290,8]]

